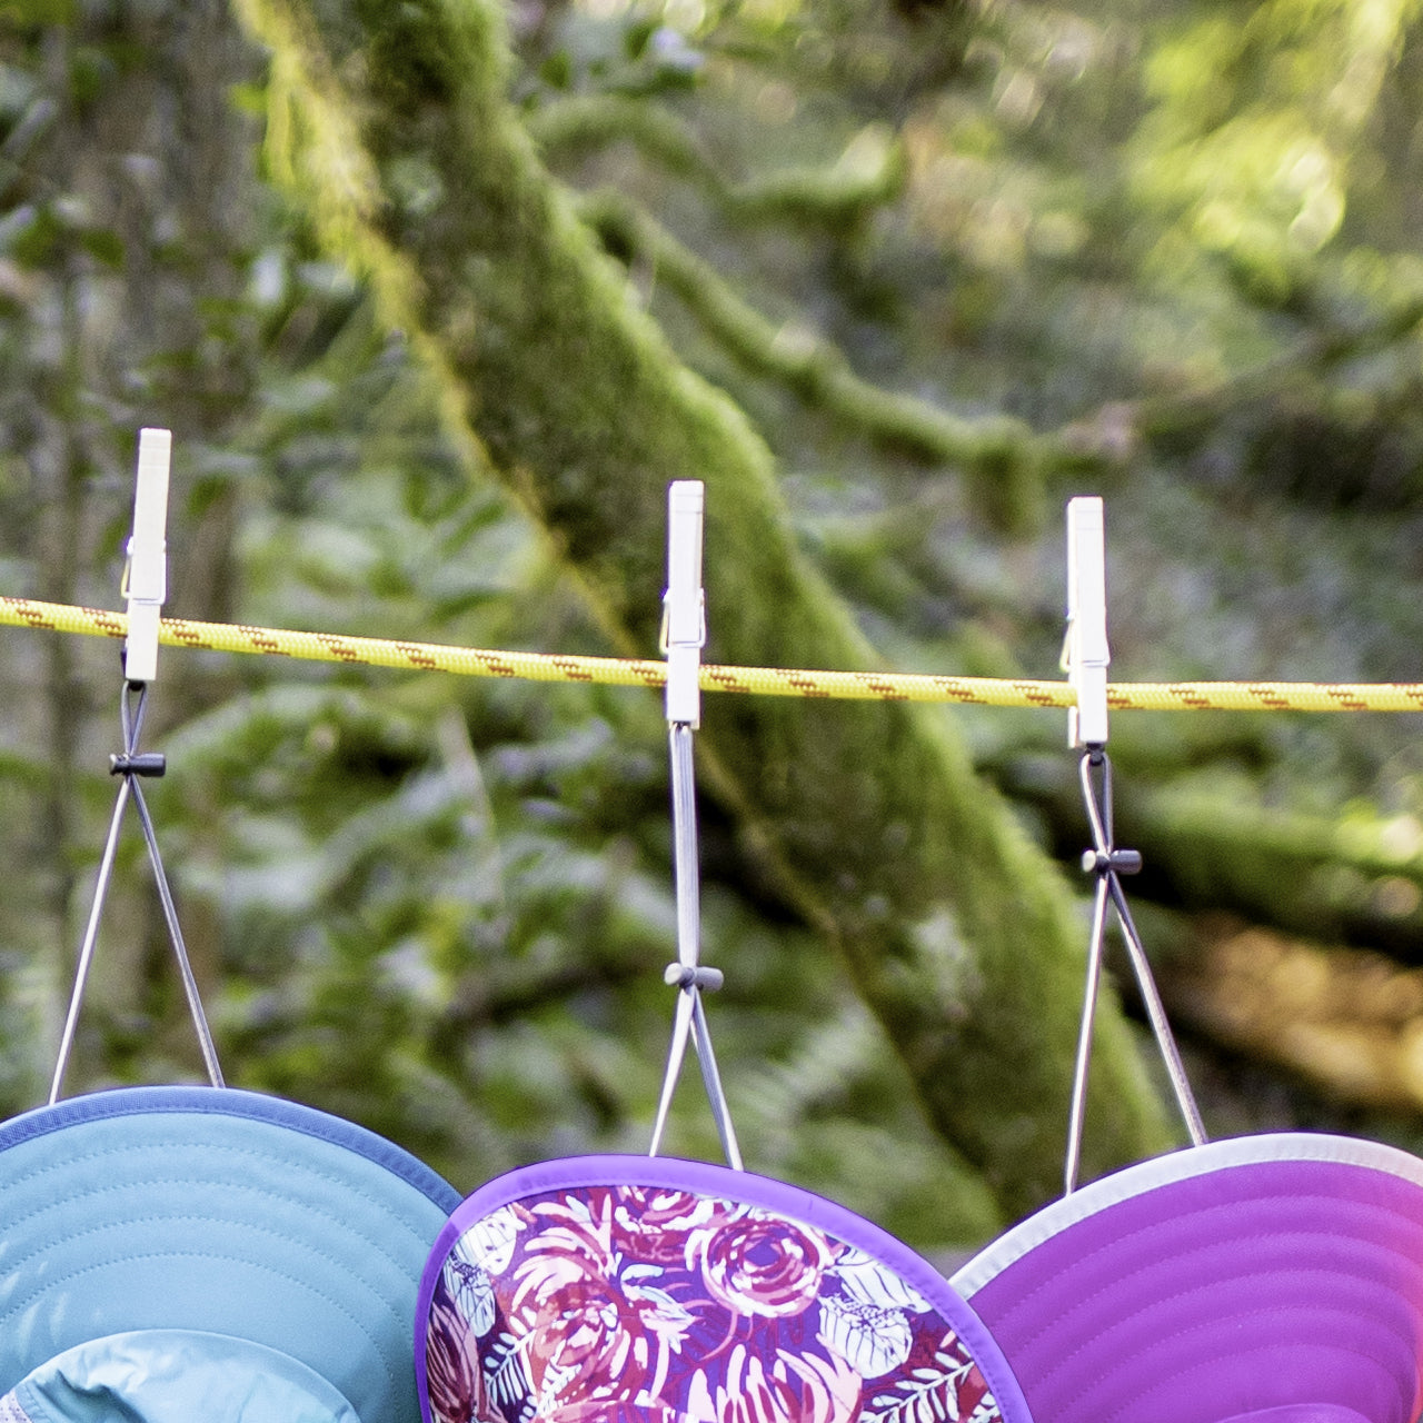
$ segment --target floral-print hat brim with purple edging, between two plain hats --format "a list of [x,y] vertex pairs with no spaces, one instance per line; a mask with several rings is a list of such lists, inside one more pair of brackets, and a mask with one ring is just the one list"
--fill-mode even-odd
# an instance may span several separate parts
[[416,1379],[424,1423],[1030,1423],[908,1247],[808,1191],[663,1157],[471,1195],[421,1281]]

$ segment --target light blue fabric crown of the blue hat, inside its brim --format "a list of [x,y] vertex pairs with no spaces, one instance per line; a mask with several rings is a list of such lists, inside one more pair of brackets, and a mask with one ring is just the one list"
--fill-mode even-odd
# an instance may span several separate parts
[[360,1423],[330,1383],[290,1355],[188,1329],[68,1349],[16,1385],[11,1400],[30,1423]]

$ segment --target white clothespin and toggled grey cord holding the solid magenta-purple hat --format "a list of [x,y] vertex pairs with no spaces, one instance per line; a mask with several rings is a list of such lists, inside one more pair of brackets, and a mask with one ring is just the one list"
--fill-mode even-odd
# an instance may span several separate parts
[[1107,558],[1103,532],[1101,499],[1074,498],[1067,504],[1067,638],[1063,643],[1063,670],[1077,693],[1077,704],[1067,713],[1067,744],[1080,748],[1079,764],[1083,801],[1091,825],[1091,850],[1083,852],[1084,874],[1096,878],[1091,905],[1091,936],[1087,951],[1087,985],[1083,993],[1081,1027],[1077,1037],[1077,1063],[1073,1072],[1072,1113],[1067,1126],[1067,1160],[1063,1171],[1064,1194],[1077,1187],[1081,1163],[1083,1117],[1087,1109],[1087,1077],[1091,1064],[1091,1025],[1097,1012],[1101,982],[1103,939],[1107,902],[1117,911],[1127,956],[1146,1005],[1151,1030],[1165,1062],[1171,1090],[1185,1120],[1192,1146],[1205,1141],[1201,1114],[1191,1093],[1171,1025],[1167,1022],[1161,995],[1151,976],[1151,965],[1141,936],[1131,919],[1121,877],[1141,868],[1141,855],[1118,850],[1111,824],[1111,761],[1107,758]]

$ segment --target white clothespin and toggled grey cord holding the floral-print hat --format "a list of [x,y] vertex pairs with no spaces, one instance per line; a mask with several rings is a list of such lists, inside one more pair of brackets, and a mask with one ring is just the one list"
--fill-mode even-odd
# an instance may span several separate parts
[[703,990],[721,986],[721,972],[700,962],[700,878],[697,868],[696,773],[692,733],[702,724],[702,649],[706,645],[706,595],[702,591],[702,524],[704,487],[700,480],[677,480],[667,487],[667,591],[662,601],[662,650],[667,657],[667,737],[672,756],[673,864],[677,894],[677,962],[663,978],[677,989],[667,1067],[662,1079],[657,1120],[649,1155],[656,1155],[672,1110],[672,1096],[693,1042],[702,1064],[702,1081],[716,1117],[727,1161],[741,1168],[741,1151],[731,1113],[721,1090],[712,1033],[707,1029]]

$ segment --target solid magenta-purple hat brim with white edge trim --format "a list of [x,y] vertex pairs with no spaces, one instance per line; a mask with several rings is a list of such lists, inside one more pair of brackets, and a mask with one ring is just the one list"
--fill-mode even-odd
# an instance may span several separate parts
[[952,1279],[1043,1423],[1416,1423],[1423,1163],[1282,1133],[1118,1171]]

